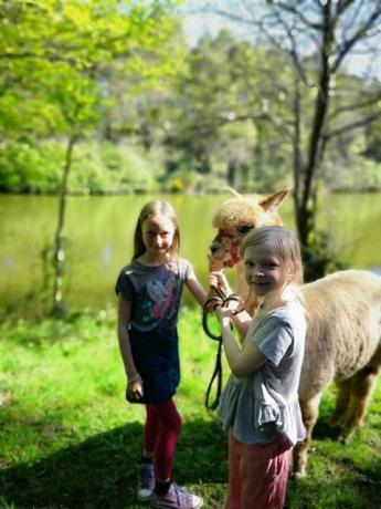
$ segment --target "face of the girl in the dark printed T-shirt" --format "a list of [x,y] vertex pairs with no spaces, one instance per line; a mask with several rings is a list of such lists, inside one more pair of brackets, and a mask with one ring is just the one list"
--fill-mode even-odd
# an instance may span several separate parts
[[144,221],[141,236],[147,253],[152,258],[161,257],[172,246],[174,225],[170,218],[159,214]]

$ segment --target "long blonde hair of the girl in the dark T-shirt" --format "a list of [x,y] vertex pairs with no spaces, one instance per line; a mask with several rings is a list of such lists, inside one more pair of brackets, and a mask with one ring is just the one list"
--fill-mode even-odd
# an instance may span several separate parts
[[146,246],[142,240],[142,224],[147,219],[151,219],[155,216],[162,215],[168,217],[173,224],[174,233],[172,245],[169,248],[169,258],[170,261],[177,261],[180,251],[180,229],[178,225],[178,219],[173,207],[165,200],[156,199],[146,204],[140,210],[138,222],[135,228],[134,233],[134,256],[133,260],[141,257],[146,252]]

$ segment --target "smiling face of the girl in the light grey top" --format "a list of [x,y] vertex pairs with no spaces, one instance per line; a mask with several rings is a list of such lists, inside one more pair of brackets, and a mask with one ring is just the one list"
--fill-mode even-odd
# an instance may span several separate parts
[[244,263],[246,283],[257,297],[282,292],[287,276],[284,262],[271,242],[247,247]]

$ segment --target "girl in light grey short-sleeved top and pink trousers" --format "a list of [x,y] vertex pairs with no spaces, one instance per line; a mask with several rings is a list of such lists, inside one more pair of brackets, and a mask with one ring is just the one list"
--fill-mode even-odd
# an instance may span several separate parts
[[[305,437],[297,389],[306,320],[295,282],[301,273],[296,238],[285,228],[253,230],[241,248],[245,279],[261,303],[253,320],[234,318],[245,332],[239,346],[234,310],[220,308],[223,346],[232,375],[219,417],[230,433],[226,509],[281,509],[293,446]],[[220,272],[211,285],[229,293]]]

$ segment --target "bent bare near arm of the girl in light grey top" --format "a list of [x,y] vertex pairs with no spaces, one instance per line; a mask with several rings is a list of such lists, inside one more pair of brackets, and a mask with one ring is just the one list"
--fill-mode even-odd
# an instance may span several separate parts
[[236,344],[230,329],[231,311],[229,309],[219,309],[218,315],[222,324],[223,347],[233,375],[237,378],[250,375],[261,367],[267,357],[252,341],[246,341],[242,349]]

